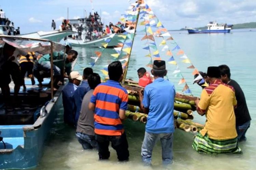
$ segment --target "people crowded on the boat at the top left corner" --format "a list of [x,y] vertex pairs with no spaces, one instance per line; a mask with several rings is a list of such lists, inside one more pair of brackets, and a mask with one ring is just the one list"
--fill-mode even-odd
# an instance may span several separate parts
[[3,27],[3,31],[7,32],[7,35],[19,35],[19,27],[17,29],[14,28],[14,23],[9,20],[9,18],[5,17],[5,12],[0,9],[0,25],[5,26]]

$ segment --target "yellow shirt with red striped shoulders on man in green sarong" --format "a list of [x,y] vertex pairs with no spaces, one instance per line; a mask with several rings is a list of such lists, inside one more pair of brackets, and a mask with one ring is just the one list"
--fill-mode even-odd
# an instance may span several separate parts
[[201,94],[199,109],[205,111],[207,121],[200,133],[206,133],[215,140],[227,140],[237,137],[234,106],[237,105],[234,88],[221,80],[205,87]]

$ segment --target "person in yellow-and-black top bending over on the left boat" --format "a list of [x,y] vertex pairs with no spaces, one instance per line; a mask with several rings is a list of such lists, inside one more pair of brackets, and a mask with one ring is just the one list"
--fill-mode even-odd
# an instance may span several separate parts
[[21,55],[19,58],[19,66],[21,71],[21,77],[23,79],[23,91],[26,91],[26,85],[24,81],[25,74],[27,73],[27,77],[31,79],[32,85],[35,84],[34,76],[33,76],[33,66],[34,66],[34,52],[28,52],[26,56]]

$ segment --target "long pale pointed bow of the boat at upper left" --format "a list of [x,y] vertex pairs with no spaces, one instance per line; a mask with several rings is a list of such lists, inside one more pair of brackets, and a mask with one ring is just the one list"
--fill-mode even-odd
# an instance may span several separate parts
[[18,35],[20,37],[28,37],[28,38],[42,38],[42,39],[48,39],[54,42],[59,42],[61,39],[68,35],[72,35],[74,32],[73,31],[49,31],[49,32],[34,32],[34,33],[29,33],[29,34],[22,34]]

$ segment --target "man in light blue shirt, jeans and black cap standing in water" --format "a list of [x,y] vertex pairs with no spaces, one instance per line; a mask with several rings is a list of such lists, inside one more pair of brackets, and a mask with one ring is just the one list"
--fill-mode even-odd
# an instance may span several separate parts
[[143,163],[150,165],[153,147],[160,138],[162,163],[167,165],[172,163],[173,159],[175,87],[172,82],[163,79],[167,74],[165,61],[154,61],[151,73],[155,81],[145,87],[144,94],[142,91],[139,92],[141,108],[148,114],[141,156]]

